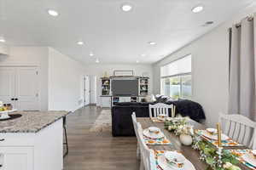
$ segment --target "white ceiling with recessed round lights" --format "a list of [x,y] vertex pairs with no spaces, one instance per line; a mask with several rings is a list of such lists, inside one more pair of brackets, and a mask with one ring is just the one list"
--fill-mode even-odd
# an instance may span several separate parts
[[[0,0],[9,45],[50,46],[84,63],[154,63],[254,0]],[[131,3],[132,11],[120,10]],[[203,4],[200,14],[191,8]],[[58,17],[47,9],[59,12]],[[4,20],[3,20],[4,19]],[[213,20],[213,26],[202,26]],[[84,46],[76,44],[84,41]],[[150,46],[148,42],[157,42]],[[89,54],[93,52],[94,57]],[[141,54],[147,54],[141,56]]]

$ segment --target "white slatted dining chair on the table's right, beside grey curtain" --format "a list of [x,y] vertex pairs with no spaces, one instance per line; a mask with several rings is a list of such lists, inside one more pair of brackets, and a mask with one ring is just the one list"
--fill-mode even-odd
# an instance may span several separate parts
[[223,133],[240,144],[256,149],[256,122],[246,116],[219,114],[218,122],[223,127]]

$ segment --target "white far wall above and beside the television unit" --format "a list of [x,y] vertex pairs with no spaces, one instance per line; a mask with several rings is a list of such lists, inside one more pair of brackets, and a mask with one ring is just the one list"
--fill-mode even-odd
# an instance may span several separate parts
[[152,83],[153,83],[153,70],[152,65],[111,65],[111,64],[94,64],[86,65],[85,71],[87,75],[95,75],[97,77],[97,105],[100,105],[100,95],[101,95],[101,80],[100,77],[104,77],[104,72],[108,72],[108,76],[113,76],[113,71],[135,71],[135,76],[143,76],[144,72],[149,74],[149,94],[152,93]]

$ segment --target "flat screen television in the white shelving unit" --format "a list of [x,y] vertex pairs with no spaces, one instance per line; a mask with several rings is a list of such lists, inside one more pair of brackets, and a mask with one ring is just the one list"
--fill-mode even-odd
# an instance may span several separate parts
[[137,79],[112,80],[111,90],[113,96],[138,96]]

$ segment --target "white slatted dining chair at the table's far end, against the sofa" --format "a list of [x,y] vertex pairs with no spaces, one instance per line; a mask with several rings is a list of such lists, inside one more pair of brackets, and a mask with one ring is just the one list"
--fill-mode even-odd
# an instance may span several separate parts
[[157,116],[167,116],[169,117],[169,110],[171,111],[171,116],[174,117],[173,105],[166,105],[163,103],[157,103],[154,105],[149,105],[149,116],[157,117]]

